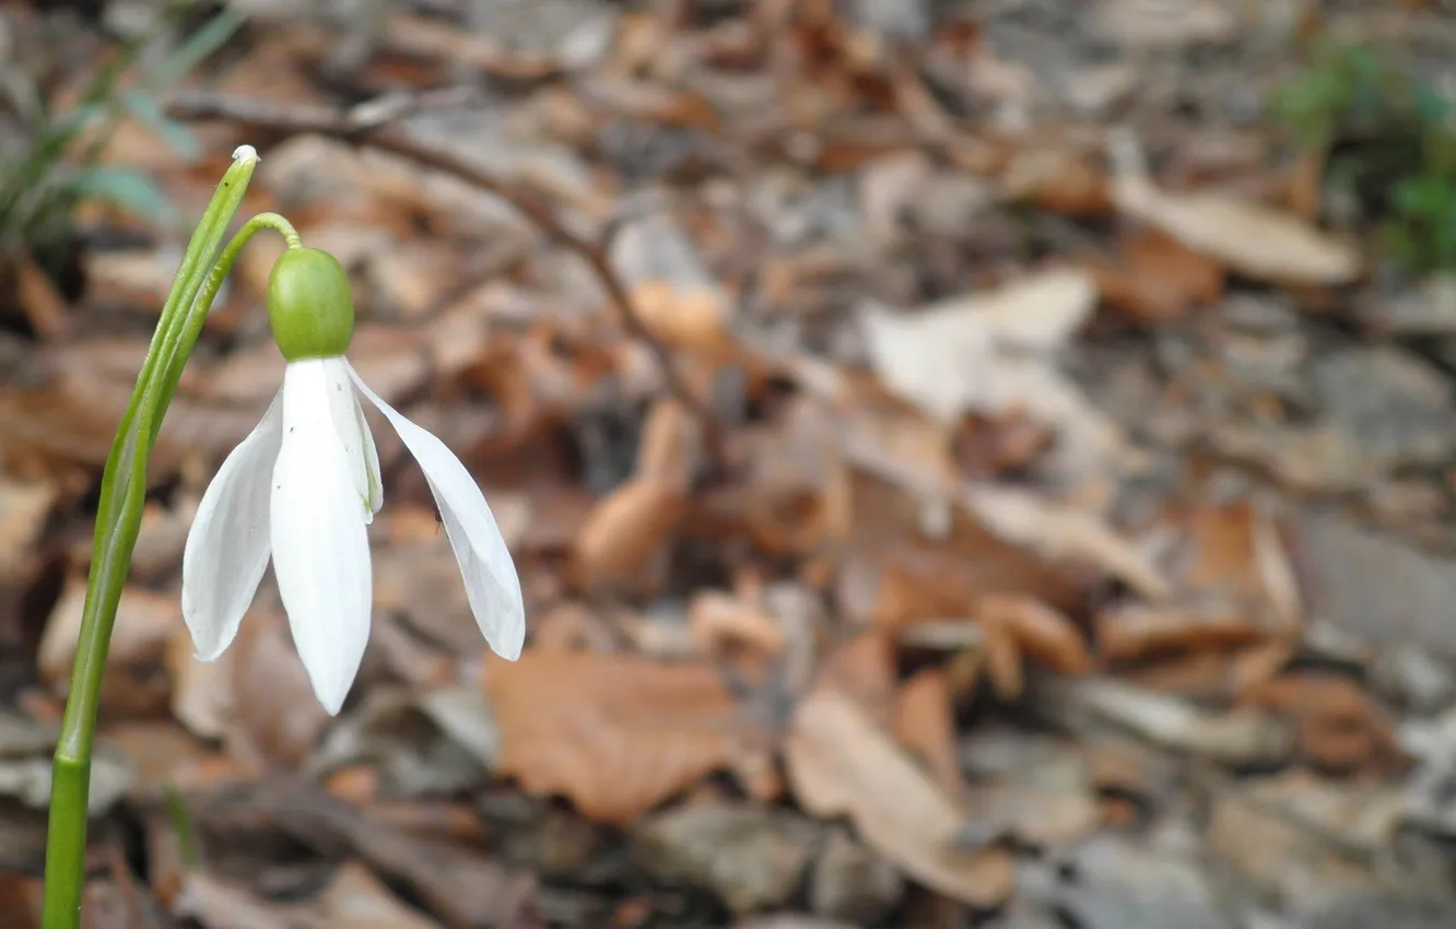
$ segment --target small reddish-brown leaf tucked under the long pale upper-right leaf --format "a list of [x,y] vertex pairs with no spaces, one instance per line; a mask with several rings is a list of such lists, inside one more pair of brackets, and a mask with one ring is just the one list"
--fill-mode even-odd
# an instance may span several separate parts
[[1150,230],[1124,236],[1120,261],[1098,262],[1092,272],[1104,303],[1144,322],[1181,319],[1223,296],[1217,261]]

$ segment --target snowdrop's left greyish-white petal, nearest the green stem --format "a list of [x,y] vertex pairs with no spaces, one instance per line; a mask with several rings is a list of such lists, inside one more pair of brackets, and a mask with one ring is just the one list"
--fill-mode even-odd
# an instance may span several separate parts
[[182,619],[202,661],[233,642],[268,568],[268,481],[282,441],[281,408],[274,396],[262,421],[229,453],[186,534]]

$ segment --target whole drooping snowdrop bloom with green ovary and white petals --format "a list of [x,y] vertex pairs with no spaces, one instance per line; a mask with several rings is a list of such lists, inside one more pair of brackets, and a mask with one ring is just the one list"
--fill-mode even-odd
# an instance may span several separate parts
[[294,248],[268,280],[268,316],[288,367],[262,422],[208,485],[182,556],[182,616],[198,658],[232,644],[272,556],[278,593],[313,690],[338,713],[364,657],[373,587],[365,524],[383,502],[379,456],[358,396],[419,462],[492,649],[521,654],[521,585],[491,508],[443,441],[368,389],[344,352],[354,299],[328,252]]

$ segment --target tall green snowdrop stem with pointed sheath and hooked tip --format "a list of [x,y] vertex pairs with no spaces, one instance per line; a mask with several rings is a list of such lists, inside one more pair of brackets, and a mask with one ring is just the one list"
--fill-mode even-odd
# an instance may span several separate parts
[[80,925],[86,879],[90,759],[102,676],[106,670],[116,604],[121,601],[122,585],[131,569],[131,552],[141,526],[147,492],[147,459],[156,443],[157,430],[182,377],[182,367],[202,323],[207,322],[213,299],[248,239],[262,229],[277,229],[290,248],[298,246],[298,234],[287,220],[264,213],[249,220],[218,256],[223,236],[242,204],[256,165],[256,156],[252,153],[233,163],[218,183],[197,232],[192,233],[182,265],[172,281],[172,291],[162,309],[162,317],[157,320],[146,361],[141,364],[131,402],[118,427],[106,469],[102,472],[96,540],[86,581],[76,667],[71,671],[71,690],[55,746],[50,831],[45,846],[44,929],[77,929]]

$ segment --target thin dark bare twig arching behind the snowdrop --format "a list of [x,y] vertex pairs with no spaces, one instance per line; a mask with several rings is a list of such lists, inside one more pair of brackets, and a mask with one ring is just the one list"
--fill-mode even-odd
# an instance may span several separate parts
[[[438,93],[438,92],[437,92]],[[416,165],[441,170],[467,181],[483,191],[495,194],[511,204],[536,229],[587,264],[607,299],[617,310],[628,333],[646,345],[662,373],[667,390],[700,422],[709,459],[713,469],[725,464],[722,425],[712,409],[693,392],[677,367],[671,351],[652,333],[632,300],[632,294],[612,266],[607,250],[597,242],[572,233],[556,217],[545,199],[533,191],[505,182],[450,151],[422,144],[409,135],[390,130],[389,122],[421,109],[440,105],[459,105],[459,96],[443,93],[441,99],[419,95],[414,105],[392,99],[389,106],[361,103],[357,108],[338,111],[326,106],[278,106],[262,100],[223,96],[205,92],[186,92],[175,96],[167,105],[167,114],[176,119],[202,121],[221,119],[248,127],[268,135],[294,135],[316,133],[351,141],[360,146],[389,151]]]

